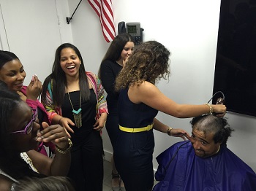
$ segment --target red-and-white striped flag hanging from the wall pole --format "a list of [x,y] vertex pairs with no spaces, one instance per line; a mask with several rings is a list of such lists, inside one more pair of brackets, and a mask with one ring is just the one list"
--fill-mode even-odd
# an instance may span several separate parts
[[88,0],[91,7],[99,16],[102,33],[106,42],[111,42],[115,36],[114,17],[111,0]]

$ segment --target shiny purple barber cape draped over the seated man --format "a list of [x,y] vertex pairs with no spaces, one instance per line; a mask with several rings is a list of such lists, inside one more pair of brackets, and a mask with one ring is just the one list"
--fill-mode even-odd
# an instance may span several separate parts
[[190,141],[181,141],[162,152],[157,162],[159,183],[154,191],[256,190],[255,172],[225,146],[202,158],[195,155]]

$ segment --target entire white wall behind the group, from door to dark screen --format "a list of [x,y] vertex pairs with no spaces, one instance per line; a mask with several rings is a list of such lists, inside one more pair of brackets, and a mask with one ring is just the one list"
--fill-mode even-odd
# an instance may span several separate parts
[[[11,7],[10,3],[20,2],[19,8],[26,10],[21,13],[25,14],[28,20],[33,19],[38,20],[37,23],[41,22],[42,30],[48,33],[49,39],[59,39],[57,41],[59,44],[74,43],[83,55],[86,70],[97,73],[109,44],[105,42],[102,36],[99,18],[88,1],[81,2],[69,25],[66,23],[66,17],[72,15],[79,0],[45,0],[45,3],[41,1],[40,7],[34,7],[34,12],[27,8],[27,4],[32,4],[33,1],[39,0],[0,0],[0,5],[1,10],[6,11],[3,10],[3,4]],[[50,9],[49,4],[53,4],[53,6],[55,4],[56,11]],[[162,42],[172,52],[170,81],[162,80],[158,87],[168,97],[180,104],[204,104],[211,98],[214,83],[219,6],[220,0],[113,0],[115,26],[120,21],[126,23],[140,22],[141,27],[144,28],[145,41],[155,39]],[[48,11],[50,10],[57,12],[58,22],[55,21],[55,16],[48,18],[50,15]],[[46,12],[47,15],[42,17],[41,13],[38,14],[39,12],[42,14]],[[21,13],[12,12],[12,20],[18,21]],[[31,14],[33,18],[29,17]],[[47,38],[38,36],[34,23],[26,26],[31,32],[22,34],[20,38],[16,36],[17,31],[16,34],[8,34],[9,38],[15,39],[12,41],[15,43],[10,42],[9,44],[12,45],[8,47],[8,39],[3,36],[5,33],[2,28],[3,25],[4,22],[0,16],[0,48],[10,49],[15,53],[20,52],[17,54],[22,58],[27,73],[34,74],[38,73],[39,70],[38,75],[43,81],[50,72],[53,55],[59,44],[55,40],[51,42]],[[56,25],[59,27],[59,34],[53,34],[51,31],[52,28],[56,28]],[[12,30],[17,28],[13,24],[9,27]],[[22,30],[23,28],[20,26],[18,31]],[[29,35],[32,35],[34,41],[31,44],[26,44],[22,38],[28,38]],[[39,46],[39,44],[45,44],[46,40],[47,47],[45,45]],[[42,67],[44,64],[47,65],[48,69]],[[226,116],[230,125],[236,130],[228,141],[228,147],[256,171],[254,160],[256,118],[229,112]],[[191,132],[189,125],[191,119],[177,119],[161,112],[157,117],[173,128],[184,128],[189,133]],[[105,130],[102,137],[106,157],[109,159],[112,147]],[[155,131],[155,140],[154,158],[171,144],[181,141],[181,139],[169,137],[157,131]],[[154,168],[157,168],[156,160],[154,160]]]

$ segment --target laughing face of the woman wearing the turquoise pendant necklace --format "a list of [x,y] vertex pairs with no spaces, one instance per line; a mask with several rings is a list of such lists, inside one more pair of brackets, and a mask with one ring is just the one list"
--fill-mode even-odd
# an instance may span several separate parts
[[79,75],[80,69],[80,58],[72,48],[64,48],[61,50],[60,58],[61,69],[64,71],[66,76],[75,77]]

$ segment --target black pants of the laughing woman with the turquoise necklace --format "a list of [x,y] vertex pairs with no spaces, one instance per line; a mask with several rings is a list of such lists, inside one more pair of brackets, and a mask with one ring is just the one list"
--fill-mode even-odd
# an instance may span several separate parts
[[77,191],[102,191],[103,146],[97,130],[72,135],[71,166],[68,177]]

